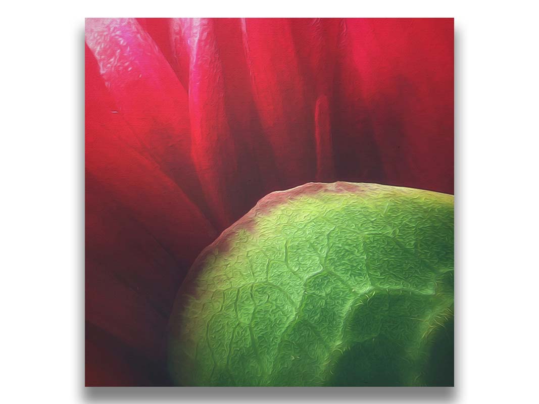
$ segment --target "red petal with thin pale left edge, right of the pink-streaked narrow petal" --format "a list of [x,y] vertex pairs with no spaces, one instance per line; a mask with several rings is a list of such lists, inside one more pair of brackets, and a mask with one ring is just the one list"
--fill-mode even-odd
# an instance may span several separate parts
[[283,189],[314,178],[314,110],[309,109],[288,19],[243,20],[254,101]]

